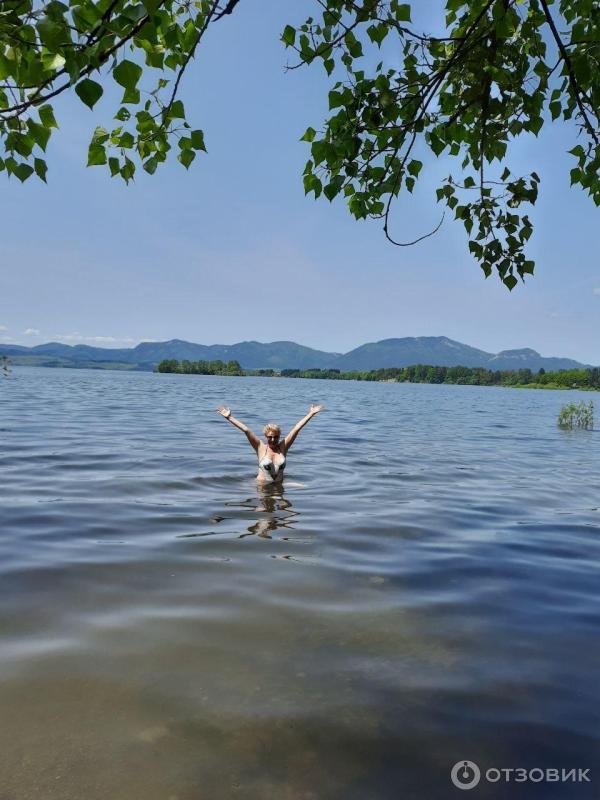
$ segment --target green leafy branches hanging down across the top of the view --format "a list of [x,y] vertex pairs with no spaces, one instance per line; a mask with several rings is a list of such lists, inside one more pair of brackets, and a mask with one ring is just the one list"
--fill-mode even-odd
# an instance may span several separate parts
[[[247,0],[250,2],[251,0]],[[52,101],[73,90],[93,108],[107,82],[123,89],[112,130],[97,127],[88,165],[125,181],[152,174],[177,146],[188,168],[205,150],[179,98],[182,76],[210,25],[239,0],[5,0],[0,5],[0,169],[46,180],[46,146],[58,127]],[[260,6],[256,6],[260,10]],[[282,34],[292,66],[321,63],[334,85],[330,116],[309,127],[304,186],[347,199],[357,219],[382,220],[411,193],[423,161],[442,153],[456,169],[437,189],[462,221],[486,276],[513,289],[532,273],[528,208],[539,177],[513,175],[511,140],[548,121],[573,121],[571,184],[600,204],[600,6],[597,0],[446,0],[446,30],[411,25],[398,0],[315,0],[314,17]],[[373,50],[393,42],[395,64]],[[420,155],[422,159],[424,156]]]

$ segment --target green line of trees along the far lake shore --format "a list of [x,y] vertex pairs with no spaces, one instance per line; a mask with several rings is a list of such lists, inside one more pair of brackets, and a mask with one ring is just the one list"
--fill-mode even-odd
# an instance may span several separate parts
[[257,369],[244,370],[238,361],[161,361],[159,372],[181,372],[193,375],[248,375],[282,378],[317,378],[321,380],[394,381],[400,383],[451,383],[469,386],[529,386],[547,389],[600,389],[600,369],[564,369],[546,372],[540,369],[489,370],[483,367],[434,367],[414,364],[410,367],[384,369]]

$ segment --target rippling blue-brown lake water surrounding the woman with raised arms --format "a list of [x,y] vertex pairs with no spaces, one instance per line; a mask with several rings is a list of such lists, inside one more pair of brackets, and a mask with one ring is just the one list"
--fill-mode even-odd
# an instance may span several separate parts
[[1,800],[598,797],[596,397],[15,368]]

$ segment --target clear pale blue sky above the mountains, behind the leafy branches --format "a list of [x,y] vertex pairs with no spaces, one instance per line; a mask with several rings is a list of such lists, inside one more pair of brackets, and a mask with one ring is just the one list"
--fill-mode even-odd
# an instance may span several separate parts
[[[56,106],[48,185],[0,175],[0,342],[287,339],[345,352],[446,335],[600,363],[598,210],[569,189],[573,131],[556,124],[509,149],[514,172],[542,179],[531,215],[536,275],[511,294],[484,279],[452,220],[400,249],[376,222],[354,221],[343,200],[304,197],[299,138],[320,127],[331,79],[320,66],[286,73],[279,36],[314,3],[259,7],[242,0],[212,26],[186,73],[188,119],[209,150],[189,172],[173,160],[126,187],[85,168],[91,132],[110,126],[116,106],[103,98],[90,112],[67,98]],[[426,163],[419,191],[396,207],[396,236],[437,223],[436,179],[449,170],[444,159]]]

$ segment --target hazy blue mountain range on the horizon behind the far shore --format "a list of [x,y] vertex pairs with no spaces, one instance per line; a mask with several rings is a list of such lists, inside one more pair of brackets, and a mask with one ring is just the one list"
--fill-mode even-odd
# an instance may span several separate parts
[[503,350],[487,353],[446,336],[407,336],[370,342],[349,353],[328,353],[295,342],[239,342],[232,345],[203,345],[172,339],[142,342],[137,347],[114,349],[49,342],[25,347],[0,345],[0,356],[13,364],[43,367],[92,367],[152,370],[163,359],[179,361],[239,361],[245,369],[339,369],[370,370],[429,364],[439,367],[484,367],[491,370],[531,369],[547,372],[577,369],[588,365],[570,358],[545,358],[535,350]]

